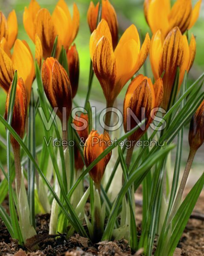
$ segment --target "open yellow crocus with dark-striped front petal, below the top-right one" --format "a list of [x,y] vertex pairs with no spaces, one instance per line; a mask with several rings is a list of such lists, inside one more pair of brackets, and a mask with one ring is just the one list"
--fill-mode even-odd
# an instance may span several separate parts
[[180,67],[181,85],[185,70],[187,72],[193,65],[196,52],[195,37],[192,35],[190,44],[186,35],[181,34],[178,27],[173,28],[164,39],[161,31],[155,33],[152,37],[150,49],[150,62],[154,78],[158,79],[164,72],[164,97],[162,107],[167,110],[175,81],[177,67]]

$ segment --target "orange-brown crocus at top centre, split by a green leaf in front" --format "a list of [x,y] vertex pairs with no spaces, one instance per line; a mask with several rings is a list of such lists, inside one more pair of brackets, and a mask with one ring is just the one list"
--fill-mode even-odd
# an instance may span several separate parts
[[[88,19],[91,33],[96,29],[96,26],[97,26],[98,8],[99,8],[99,3],[97,3],[97,5],[95,6],[94,3],[91,1],[89,5],[89,10],[87,13],[87,19]],[[118,20],[117,20],[115,9],[111,5],[109,0],[102,0],[101,18],[106,20],[109,25],[111,36],[112,36],[113,48],[115,49],[115,47],[118,44]]]

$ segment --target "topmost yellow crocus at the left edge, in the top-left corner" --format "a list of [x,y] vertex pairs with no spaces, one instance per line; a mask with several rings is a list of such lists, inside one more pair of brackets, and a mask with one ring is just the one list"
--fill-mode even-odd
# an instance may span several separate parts
[[17,33],[18,24],[15,11],[9,13],[7,20],[3,12],[0,12],[0,42],[3,40],[3,49],[10,50],[13,47]]

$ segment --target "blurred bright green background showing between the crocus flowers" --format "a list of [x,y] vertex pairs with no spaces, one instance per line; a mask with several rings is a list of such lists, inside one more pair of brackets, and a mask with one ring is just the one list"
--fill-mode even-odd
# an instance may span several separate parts
[[[86,20],[86,14],[87,10],[89,8],[89,0],[66,0],[66,3],[68,4],[70,8],[70,12],[72,12],[72,5],[73,3],[76,3],[78,6],[78,9],[80,11],[80,29],[78,32],[78,36],[75,40],[75,43],[77,45],[77,49],[79,52],[80,57],[80,83],[79,83],[79,89],[78,89],[78,95],[75,98],[75,101],[78,102],[78,105],[82,105],[81,102],[84,100],[84,97],[87,92],[87,83],[88,83],[88,76],[89,76],[89,64],[90,64],[90,56],[89,56],[89,38],[90,38],[90,31],[89,26],[87,24]],[[97,3],[98,1],[94,0],[94,3]],[[112,5],[115,7],[115,10],[118,15],[118,22],[120,27],[120,34],[132,23],[134,23],[138,31],[141,32],[142,35],[145,35],[147,32],[151,35],[151,32],[149,30],[149,27],[147,26],[147,23],[144,18],[144,12],[143,12],[143,3],[144,0],[110,0]],[[174,1],[172,1],[173,3]],[[197,0],[193,0],[193,5],[197,2]],[[57,0],[39,0],[38,3],[41,7],[45,7],[49,9],[49,11],[52,13],[53,9],[55,8],[55,4],[57,3]],[[9,14],[9,12],[12,9],[15,9],[17,13],[17,19],[18,19],[18,25],[19,25],[19,32],[18,32],[18,38],[26,40],[31,49],[32,52],[34,52],[34,44],[27,36],[24,27],[23,27],[23,10],[25,6],[29,5],[28,0],[0,0],[0,10],[3,11],[3,13],[6,15]],[[63,26],[63,24],[62,24]],[[193,65],[192,70],[189,74],[189,84],[192,81],[195,81],[195,79],[198,78],[198,76],[201,75],[202,72],[204,72],[204,3],[202,3],[200,17],[193,27],[191,29],[190,33],[193,32],[193,34],[196,36],[196,42],[197,42],[197,54],[195,58],[195,62]],[[149,59],[147,60],[147,71],[148,76],[152,77]],[[143,68],[140,70],[141,73],[143,73]],[[124,87],[122,92],[120,93],[118,97],[118,105],[119,108],[122,108],[123,105],[123,99],[124,94],[126,92],[127,85]],[[5,108],[5,99],[6,95],[3,92],[3,90],[0,89],[0,114],[4,113]],[[103,96],[103,92],[101,90],[101,86],[98,83],[97,79],[94,78],[93,86],[92,86],[92,93],[90,96],[91,105],[98,106],[98,110],[103,109],[103,105],[105,103],[105,99]],[[83,105],[82,105],[83,106]],[[40,143],[42,141],[42,128],[40,126],[40,122],[37,122],[36,127],[37,134],[37,143]],[[0,135],[2,137],[5,137],[5,128],[0,125]],[[188,131],[186,131],[186,135],[184,137],[184,150],[186,153],[184,154],[184,162],[186,161],[186,154],[188,152],[188,143],[187,143],[187,134]],[[3,148],[0,148],[0,159],[5,162],[6,160],[6,151]],[[203,148],[201,149],[202,157],[198,154],[196,158],[195,166],[199,166],[198,169],[200,169],[200,166],[203,166],[204,164],[204,158],[203,158]]]

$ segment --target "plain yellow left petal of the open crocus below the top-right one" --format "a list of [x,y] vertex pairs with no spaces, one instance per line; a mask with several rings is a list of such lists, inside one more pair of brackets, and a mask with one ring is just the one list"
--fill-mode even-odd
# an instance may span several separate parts
[[159,73],[159,64],[161,62],[161,55],[163,50],[163,39],[164,38],[161,35],[161,30],[158,30],[152,36],[149,58],[155,79],[158,79],[159,76],[161,75]]

